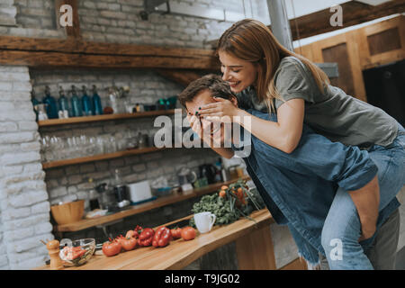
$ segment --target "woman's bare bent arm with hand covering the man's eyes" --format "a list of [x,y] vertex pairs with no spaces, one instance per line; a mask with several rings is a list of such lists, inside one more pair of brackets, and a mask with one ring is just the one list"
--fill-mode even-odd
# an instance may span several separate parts
[[[292,153],[300,142],[302,123],[304,117],[304,100],[292,99],[287,101],[277,110],[277,121],[266,121],[255,117],[248,112],[238,109],[229,100],[215,98],[217,103],[210,103],[201,107],[200,115],[204,116],[239,116],[233,121],[238,122],[257,139],[278,148],[285,153]],[[250,127],[245,127],[243,117],[251,118]]]

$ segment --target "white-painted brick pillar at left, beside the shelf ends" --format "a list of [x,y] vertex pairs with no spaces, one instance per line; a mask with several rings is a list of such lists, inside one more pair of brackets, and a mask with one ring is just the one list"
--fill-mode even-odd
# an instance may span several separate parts
[[[53,238],[27,67],[1,67],[0,269],[40,266]],[[45,251],[46,252],[46,251]]]

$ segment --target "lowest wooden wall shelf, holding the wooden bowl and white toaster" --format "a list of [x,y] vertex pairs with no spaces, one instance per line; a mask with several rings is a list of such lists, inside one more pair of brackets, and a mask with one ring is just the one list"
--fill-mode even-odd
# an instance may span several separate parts
[[[250,179],[249,176],[243,177],[243,179]],[[79,231],[82,229],[87,229],[91,228],[97,225],[103,225],[108,222],[112,222],[114,220],[120,220],[122,218],[126,218],[129,216],[133,216],[139,213],[142,213],[144,211],[149,211],[158,207],[166,206],[175,202],[181,202],[186,199],[191,199],[195,198],[207,193],[212,193],[220,189],[220,186],[224,184],[231,184],[234,182],[237,182],[238,179],[234,180],[229,180],[227,182],[223,183],[217,183],[217,184],[209,184],[208,186],[202,187],[202,188],[197,188],[193,189],[192,192],[189,193],[175,193],[172,195],[164,196],[157,198],[157,200],[154,200],[152,202],[146,202],[143,204],[131,206],[130,209],[120,211],[114,214],[110,215],[105,215],[102,217],[94,218],[94,219],[84,219],[84,220],[79,220],[74,223],[69,223],[69,224],[64,224],[64,225],[58,225],[55,227],[55,230],[58,232],[74,232],[74,231]]]

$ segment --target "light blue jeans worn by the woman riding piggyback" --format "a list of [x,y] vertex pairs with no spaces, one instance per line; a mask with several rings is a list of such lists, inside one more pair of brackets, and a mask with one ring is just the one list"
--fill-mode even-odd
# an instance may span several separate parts
[[[400,124],[399,126],[398,136],[390,146],[374,145],[369,150],[369,156],[378,166],[379,211],[392,201],[405,184],[405,129]],[[321,234],[322,247],[330,269],[374,269],[365,252],[371,247],[375,233],[373,237],[359,242],[360,235],[361,223],[356,206],[349,193],[338,189]]]

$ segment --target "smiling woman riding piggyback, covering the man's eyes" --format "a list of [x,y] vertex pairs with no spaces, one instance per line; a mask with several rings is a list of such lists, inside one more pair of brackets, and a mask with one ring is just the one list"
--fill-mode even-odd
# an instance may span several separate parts
[[[405,130],[401,124],[383,110],[329,85],[319,67],[285,49],[263,23],[246,19],[233,24],[220,37],[217,54],[222,78],[232,92],[257,110],[277,114],[276,122],[251,116],[249,131],[257,139],[291,153],[305,122],[332,141],[368,149],[379,168],[378,179],[376,176],[360,190],[338,191],[322,230],[322,246],[332,269],[373,269],[359,241],[372,240],[378,211],[405,183]],[[220,98],[199,111],[202,117],[248,115]],[[330,259],[334,238],[345,239],[347,261]]]

